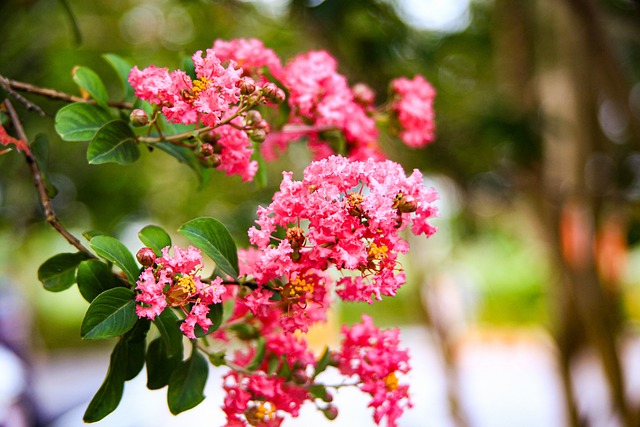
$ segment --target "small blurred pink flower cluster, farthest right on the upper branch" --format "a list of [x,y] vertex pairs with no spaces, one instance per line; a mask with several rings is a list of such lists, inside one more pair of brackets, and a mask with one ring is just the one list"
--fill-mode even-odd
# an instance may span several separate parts
[[395,93],[392,109],[400,123],[400,138],[414,148],[432,142],[435,138],[435,89],[420,75],[413,80],[406,77],[395,79],[391,87]]

